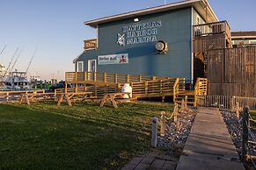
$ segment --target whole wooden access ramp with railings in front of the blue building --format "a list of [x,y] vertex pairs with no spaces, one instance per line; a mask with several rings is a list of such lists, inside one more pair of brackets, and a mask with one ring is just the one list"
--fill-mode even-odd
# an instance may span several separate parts
[[[186,90],[185,78],[161,77],[152,75],[109,74],[98,72],[67,72],[66,83],[76,84],[76,88],[65,89],[65,92],[92,92],[93,96],[103,96],[106,93],[120,93],[124,83],[129,83],[133,89],[133,97],[149,98],[172,96],[173,102],[190,96],[194,103],[195,95],[201,95],[201,89],[207,88],[206,79],[198,79],[196,90]],[[202,88],[204,87],[204,88]],[[63,89],[61,89],[63,90]],[[58,93],[58,92],[57,92]]]

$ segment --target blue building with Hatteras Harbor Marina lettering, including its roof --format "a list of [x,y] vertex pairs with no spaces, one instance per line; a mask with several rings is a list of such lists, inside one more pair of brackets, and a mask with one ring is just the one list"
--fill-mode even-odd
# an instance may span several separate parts
[[194,27],[218,22],[207,0],[187,0],[84,22],[97,30],[73,62],[77,72],[203,76]]

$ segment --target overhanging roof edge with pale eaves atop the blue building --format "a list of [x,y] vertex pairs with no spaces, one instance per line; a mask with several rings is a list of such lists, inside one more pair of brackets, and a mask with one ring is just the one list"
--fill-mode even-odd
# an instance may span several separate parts
[[[207,12],[205,11],[206,6],[207,6]],[[110,17],[97,18],[90,21],[85,21],[84,25],[89,25],[91,27],[96,28],[97,25],[99,24],[104,24],[104,23],[113,22],[113,21],[126,19],[126,18],[140,17],[143,15],[148,15],[148,14],[162,12],[162,11],[172,11],[172,10],[187,8],[187,7],[194,7],[194,9],[201,14],[202,18],[204,18],[205,20],[207,18],[208,22],[218,21],[218,18],[216,17],[215,12],[212,10],[207,0],[185,0],[178,3],[160,5],[160,6],[147,8],[139,11],[130,11],[127,13],[113,15]]]

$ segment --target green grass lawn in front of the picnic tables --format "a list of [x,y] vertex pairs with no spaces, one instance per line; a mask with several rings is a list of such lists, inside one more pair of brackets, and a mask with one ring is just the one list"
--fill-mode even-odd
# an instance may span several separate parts
[[0,104],[0,169],[119,169],[149,151],[150,118],[171,105]]

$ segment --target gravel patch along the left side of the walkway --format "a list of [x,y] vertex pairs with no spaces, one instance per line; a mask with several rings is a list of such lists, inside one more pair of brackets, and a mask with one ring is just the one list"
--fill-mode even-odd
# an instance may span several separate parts
[[157,147],[180,155],[194,123],[195,115],[196,109],[190,108],[179,113],[178,123],[174,123],[172,120],[168,121],[165,129],[165,137],[159,136],[157,138]]

